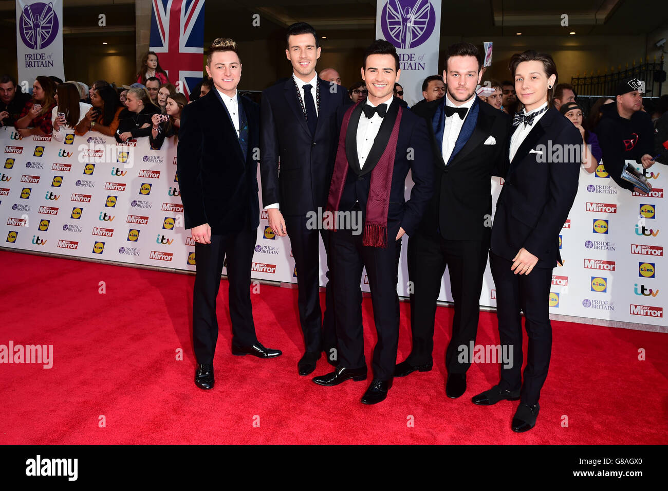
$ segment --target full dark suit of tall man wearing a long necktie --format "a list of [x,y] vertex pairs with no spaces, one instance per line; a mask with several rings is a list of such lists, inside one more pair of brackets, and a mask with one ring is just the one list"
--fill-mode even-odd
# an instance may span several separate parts
[[[331,87],[337,92],[330,92]],[[324,319],[319,296],[319,234],[326,251],[329,251],[329,234],[326,230],[319,233],[309,229],[307,213],[317,214],[318,208],[324,210],[327,204],[336,153],[334,116],[347,98],[341,86],[331,86],[319,78],[317,91],[314,103],[319,99],[319,108],[314,135],[302,112],[293,77],[262,93],[260,164],[263,204],[279,203],[285,219],[297,267],[301,328],[306,351],[314,353],[335,347],[336,333],[329,267]]]

